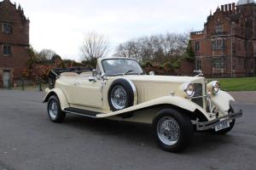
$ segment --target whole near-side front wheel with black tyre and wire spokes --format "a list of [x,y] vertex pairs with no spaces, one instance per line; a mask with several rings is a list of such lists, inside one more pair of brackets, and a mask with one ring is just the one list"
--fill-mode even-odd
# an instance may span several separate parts
[[189,117],[172,109],[164,109],[155,116],[153,131],[160,148],[171,152],[185,150],[194,133]]

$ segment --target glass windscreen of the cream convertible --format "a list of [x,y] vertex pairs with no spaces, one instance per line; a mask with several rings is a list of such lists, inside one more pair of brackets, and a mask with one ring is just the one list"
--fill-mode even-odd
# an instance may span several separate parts
[[116,76],[121,74],[137,74],[143,73],[142,68],[133,59],[104,59],[102,67],[108,76]]

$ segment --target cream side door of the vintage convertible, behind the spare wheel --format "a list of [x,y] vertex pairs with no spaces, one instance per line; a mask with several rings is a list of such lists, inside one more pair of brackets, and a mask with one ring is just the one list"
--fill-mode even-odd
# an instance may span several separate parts
[[102,108],[102,83],[90,82],[89,77],[79,77],[74,83],[73,104]]

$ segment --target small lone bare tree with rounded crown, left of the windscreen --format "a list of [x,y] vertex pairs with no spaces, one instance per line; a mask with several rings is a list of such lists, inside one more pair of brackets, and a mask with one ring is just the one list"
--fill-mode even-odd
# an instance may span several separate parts
[[102,34],[90,32],[84,37],[81,47],[83,60],[95,60],[108,54],[108,40]]

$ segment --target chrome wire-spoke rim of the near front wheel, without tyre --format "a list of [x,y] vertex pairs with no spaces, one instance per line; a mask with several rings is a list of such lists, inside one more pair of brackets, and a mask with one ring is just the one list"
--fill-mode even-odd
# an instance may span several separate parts
[[165,116],[157,124],[157,135],[160,141],[167,145],[177,144],[180,128],[171,116]]

